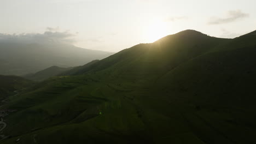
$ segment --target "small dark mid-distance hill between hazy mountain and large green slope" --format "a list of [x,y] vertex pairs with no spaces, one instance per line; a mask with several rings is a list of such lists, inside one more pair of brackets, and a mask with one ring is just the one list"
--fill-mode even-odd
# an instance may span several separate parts
[[63,73],[64,71],[68,71],[71,69],[72,67],[60,68],[57,66],[53,66],[53,67],[38,71],[37,73],[34,73],[34,74],[24,75],[23,77],[33,81],[43,81],[45,79],[48,79],[49,77],[56,76],[58,74]]

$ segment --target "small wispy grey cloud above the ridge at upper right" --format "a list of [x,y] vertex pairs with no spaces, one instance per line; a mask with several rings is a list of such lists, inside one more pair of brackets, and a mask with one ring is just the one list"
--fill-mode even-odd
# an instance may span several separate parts
[[208,22],[209,25],[219,25],[223,23],[234,22],[239,19],[249,17],[249,14],[243,13],[241,10],[230,10],[225,18],[212,17]]

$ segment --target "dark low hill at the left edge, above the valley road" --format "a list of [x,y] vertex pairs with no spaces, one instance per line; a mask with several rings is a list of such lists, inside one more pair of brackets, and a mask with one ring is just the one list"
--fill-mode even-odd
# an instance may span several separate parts
[[0,100],[3,100],[11,94],[16,94],[17,91],[30,87],[32,84],[32,81],[19,76],[0,75]]

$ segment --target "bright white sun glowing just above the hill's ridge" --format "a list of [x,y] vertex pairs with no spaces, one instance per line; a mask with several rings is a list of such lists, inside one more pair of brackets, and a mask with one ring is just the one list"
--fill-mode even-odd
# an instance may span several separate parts
[[163,21],[150,22],[144,29],[144,38],[147,43],[153,43],[154,41],[168,35],[167,25]]

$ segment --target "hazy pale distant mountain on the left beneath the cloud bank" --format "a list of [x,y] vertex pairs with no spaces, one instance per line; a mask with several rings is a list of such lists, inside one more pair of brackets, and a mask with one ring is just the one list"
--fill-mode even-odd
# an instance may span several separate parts
[[0,43],[0,74],[26,75],[53,65],[75,67],[112,54],[68,44]]

